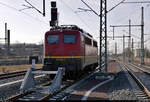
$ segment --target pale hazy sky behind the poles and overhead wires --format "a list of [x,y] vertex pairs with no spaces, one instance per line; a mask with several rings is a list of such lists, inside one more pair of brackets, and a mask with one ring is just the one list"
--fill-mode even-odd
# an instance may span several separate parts
[[[28,0],[31,4],[42,11],[43,0]],[[99,17],[93,12],[78,12],[78,8],[88,9],[81,0],[56,0],[57,8],[59,12],[59,25],[73,24],[78,25],[85,31],[89,32],[99,41]],[[99,1],[100,0],[84,0],[88,3],[97,13],[99,13]],[[107,0],[108,10],[114,7],[122,0]],[[145,0],[126,0],[126,1],[145,1]],[[147,0],[148,1],[148,0]],[[150,0],[149,0],[150,1]],[[4,38],[5,22],[8,23],[8,29],[11,30],[11,43],[39,43],[44,39],[44,33],[50,29],[50,2],[46,0],[46,17],[43,17],[34,9],[27,9],[20,12],[20,9],[25,8],[23,4],[27,5],[24,0],[0,0],[0,38]],[[110,25],[128,24],[131,19],[132,24],[141,24],[141,7],[144,7],[144,23],[145,34],[150,34],[150,4],[121,4],[114,10],[108,13],[108,36],[112,36],[112,28]],[[122,36],[128,35],[122,30],[128,32],[128,28],[116,28],[115,35]],[[140,28],[132,28],[132,34],[134,35],[134,41],[138,42],[139,39],[135,36],[141,36]],[[145,35],[145,40],[150,38],[150,35]],[[118,43],[118,50],[122,51],[122,40],[108,39],[109,50],[114,51],[115,42]],[[4,41],[0,40],[0,43]],[[127,40],[126,40],[127,42]],[[149,41],[145,43],[145,46],[150,49],[148,45]],[[137,47],[137,44],[135,44]],[[119,52],[118,51],[118,52]]]

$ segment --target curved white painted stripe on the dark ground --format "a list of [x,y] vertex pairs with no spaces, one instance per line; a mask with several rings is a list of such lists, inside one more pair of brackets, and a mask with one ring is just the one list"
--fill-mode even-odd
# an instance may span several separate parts
[[89,91],[86,92],[86,94],[82,97],[81,100],[87,100],[88,96],[90,95],[90,93],[91,93],[92,91],[94,91],[96,88],[100,87],[100,86],[103,85],[103,84],[106,84],[107,82],[109,82],[109,81],[111,81],[111,80],[113,80],[113,79],[114,79],[114,77],[110,78],[109,80],[100,82],[100,83],[97,84],[95,87],[92,87]]

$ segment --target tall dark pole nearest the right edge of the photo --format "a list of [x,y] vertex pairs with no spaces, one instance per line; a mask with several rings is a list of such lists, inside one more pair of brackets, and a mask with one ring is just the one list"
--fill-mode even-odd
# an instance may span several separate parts
[[141,65],[144,65],[144,7],[141,14]]

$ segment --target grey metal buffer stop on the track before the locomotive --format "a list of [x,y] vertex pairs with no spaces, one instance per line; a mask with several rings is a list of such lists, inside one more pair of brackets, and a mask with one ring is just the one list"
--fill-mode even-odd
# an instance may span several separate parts
[[[24,94],[26,92],[38,92],[38,93],[46,93],[46,94],[53,94],[60,90],[62,84],[62,77],[64,75],[64,68],[59,67],[58,71],[34,71],[35,70],[35,60],[32,60],[32,66],[27,71],[24,80],[20,87],[20,94]],[[47,88],[40,88],[40,86],[35,85],[35,74],[56,74],[55,78],[50,86]],[[33,97],[33,96],[32,96]],[[42,96],[41,96],[42,97]],[[40,97],[33,97],[34,99],[40,99]],[[19,99],[20,100],[20,99]],[[22,98],[21,98],[22,100]],[[23,99],[24,100],[24,99]]]

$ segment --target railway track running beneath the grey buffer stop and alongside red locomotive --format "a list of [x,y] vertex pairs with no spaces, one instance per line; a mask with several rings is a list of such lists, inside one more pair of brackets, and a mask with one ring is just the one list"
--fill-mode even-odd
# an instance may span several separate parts
[[63,98],[68,94],[66,92],[63,92],[65,89],[67,89],[68,87],[77,83],[78,81],[82,80],[83,78],[89,76],[89,74],[91,74],[91,73],[93,73],[93,71],[82,75],[77,80],[63,80],[62,85],[61,85],[61,89],[56,91],[53,94],[49,94],[49,92],[48,92],[49,85],[42,85],[42,87],[41,86],[35,87],[35,89],[33,89],[31,91],[17,94],[13,97],[10,97],[7,99],[7,101],[45,101],[45,100],[48,100],[50,98],[56,98],[56,97],[58,98],[58,96]]

